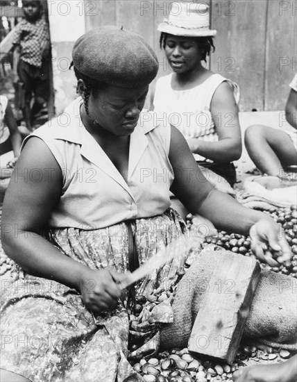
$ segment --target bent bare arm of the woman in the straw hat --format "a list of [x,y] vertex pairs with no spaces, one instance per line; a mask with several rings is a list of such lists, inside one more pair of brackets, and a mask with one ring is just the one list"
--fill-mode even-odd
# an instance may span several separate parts
[[220,163],[230,163],[241,156],[241,132],[238,106],[228,83],[223,82],[214,92],[210,104],[212,119],[219,140],[206,142],[199,138],[188,140],[193,153]]

